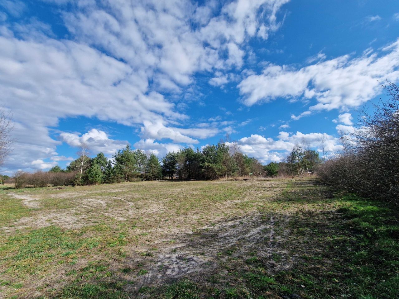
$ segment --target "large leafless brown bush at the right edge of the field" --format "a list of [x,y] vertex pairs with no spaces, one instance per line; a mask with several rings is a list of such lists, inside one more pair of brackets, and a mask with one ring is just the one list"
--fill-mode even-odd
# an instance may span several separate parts
[[338,188],[399,204],[399,87],[385,88],[390,99],[371,107],[371,114],[363,109],[349,147],[318,174]]

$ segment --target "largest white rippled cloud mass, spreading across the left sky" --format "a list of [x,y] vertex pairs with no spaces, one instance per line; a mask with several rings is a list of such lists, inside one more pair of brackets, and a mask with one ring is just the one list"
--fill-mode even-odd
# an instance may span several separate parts
[[[196,144],[196,138],[214,136],[216,129],[177,128],[188,116],[176,112],[164,91],[181,92],[196,72],[219,71],[213,76],[219,81],[210,83],[223,85],[223,76],[243,65],[245,43],[252,37],[266,39],[279,28],[277,12],[288,0],[46,2],[60,12],[68,30],[65,39],[56,39],[40,22],[0,28],[0,92],[14,113],[18,136],[8,169],[29,170],[45,164],[33,161],[56,156],[60,141],[50,137],[48,128],[57,127],[60,118],[139,126],[142,140]],[[13,16],[26,9],[21,1],[1,4]],[[69,134],[61,141],[71,146],[89,135],[93,151],[111,153],[119,146],[100,131]]]

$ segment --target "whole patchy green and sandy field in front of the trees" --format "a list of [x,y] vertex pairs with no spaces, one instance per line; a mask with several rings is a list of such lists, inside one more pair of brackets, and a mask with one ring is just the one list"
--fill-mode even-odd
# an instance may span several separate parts
[[399,298],[397,208],[314,179],[0,189],[0,298]]

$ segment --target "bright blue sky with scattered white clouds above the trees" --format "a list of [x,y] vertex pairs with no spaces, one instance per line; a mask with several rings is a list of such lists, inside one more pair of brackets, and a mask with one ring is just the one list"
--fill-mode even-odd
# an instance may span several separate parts
[[399,81],[399,2],[0,0],[0,172],[65,167],[85,142],[162,157],[226,134],[262,163],[329,153]]

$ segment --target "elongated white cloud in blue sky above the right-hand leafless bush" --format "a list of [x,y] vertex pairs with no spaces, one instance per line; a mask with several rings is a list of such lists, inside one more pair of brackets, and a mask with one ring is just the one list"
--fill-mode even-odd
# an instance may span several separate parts
[[[261,74],[249,75],[238,88],[251,106],[278,97],[315,99],[312,110],[356,107],[381,92],[378,81],[399,79],[399,39],[377,53],[344,55],[300,69],[269,64]],[[294,118],[295,119],[295,118]]]

